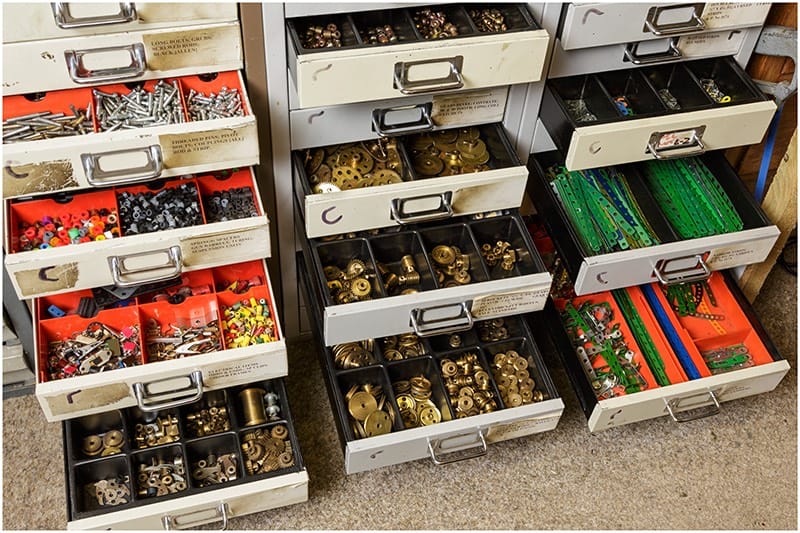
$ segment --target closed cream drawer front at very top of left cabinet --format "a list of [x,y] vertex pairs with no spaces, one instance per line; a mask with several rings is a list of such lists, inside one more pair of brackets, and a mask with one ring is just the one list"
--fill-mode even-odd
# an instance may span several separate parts
[[232,3],[33,2],[3,5],[3,42],[235,22]]

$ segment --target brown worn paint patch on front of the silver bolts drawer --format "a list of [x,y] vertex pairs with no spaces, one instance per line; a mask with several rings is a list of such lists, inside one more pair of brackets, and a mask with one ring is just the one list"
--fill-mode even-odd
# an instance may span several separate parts
[[3,166],[4,198],[77,186],[72,163],[68,160],[26,164],[6,160]]

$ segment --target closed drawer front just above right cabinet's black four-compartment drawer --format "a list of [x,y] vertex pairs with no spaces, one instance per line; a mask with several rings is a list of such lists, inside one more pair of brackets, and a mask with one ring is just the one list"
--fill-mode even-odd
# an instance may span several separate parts
[[562,78],[591,72],[739,54],[743,54],[745,58],[743,62],[746,62],[760,31],[760,27],[715,31],[579,50],[564,50],[561,41],[556,40],[547,76]]

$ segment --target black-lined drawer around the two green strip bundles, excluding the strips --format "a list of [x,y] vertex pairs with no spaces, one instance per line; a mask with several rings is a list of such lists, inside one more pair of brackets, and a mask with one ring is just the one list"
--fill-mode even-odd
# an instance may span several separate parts
[[530,160],[530,196],[559,249],[579,295],[659,280],[679,283],[713,270],[758,263],[766,259],[780,232],[730,167],[722,153],[706,154],[701,161],[725,191],[742,220],[742,229],[730,233],[681,239],[658,207],[644,179],[647,163],[619,167],[647,222],[661,244],[622,251],[588,251],[577,236],[565,208],[551,187],[545,169],[560,164],[555,153],[536,154]]

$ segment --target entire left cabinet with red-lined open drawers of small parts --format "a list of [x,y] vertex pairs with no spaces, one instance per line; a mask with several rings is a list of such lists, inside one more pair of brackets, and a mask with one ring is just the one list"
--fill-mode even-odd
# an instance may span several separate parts
[[[305,501],[238,6],[4,15],[5,267],[32,299],[37,399],[63,421],[68,527]],[[229,420],[193,434],[195,408]],[[171,438],[139,445],[154,435]]]

